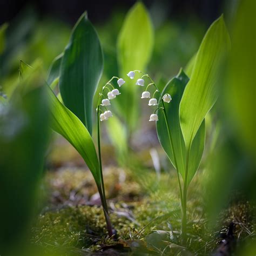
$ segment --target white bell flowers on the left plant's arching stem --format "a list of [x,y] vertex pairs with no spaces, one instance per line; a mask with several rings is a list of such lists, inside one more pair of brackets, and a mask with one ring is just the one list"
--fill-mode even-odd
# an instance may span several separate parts
[[[106,85],[103,86],[102,92],[99,93],[99,95],[100,95],[100,97],[99,97],[99,102],[100,102],[100,100],[102,99],[102,96],[104,96],[104,95],[103,95],[104,89],[105,89],[105,88],[108,89],[109,92],[107,92],[107,99],[106,99],[106,98],[105,98],[105,99],[102,99],[102,104],[99,104],[99,103],[98,103],[97,112],[98,112],[98,111],[101,111],[101,110],[100,110],[100,106],[103,106],[103,107],[105,107],[105,109],[106,109],[107,106],[110,106],[110,105],[111,105],[111,104],[110,104],[110,100],[116,98],[118,95],[121,94],[121,93],[119,92],[119,90],[118,90],[118,89],[115,89],[114,86],[111,84],[111,81],[112,81],[114,78],[117,78],[117,79],[118,79],[118,80],[117,80],[117,84],[119,85],[119,87],[121,87],[121,86],[125,83],[125,80],[124,80],[123,78],[112,77],[112,78],[109,80],[109,82],[107,82]],[[113,90],[111,91],[108,86],[111,86]],[[107,110],[107,109],[106,109],[105,112],[103,112],[103,113],[100,114],[99,119],[100,119],[100,121],[104,121],[104,120],[109,119],[109,118],[112,117],[112,116],[113,116],[112,112],[111,112],[110,110]]]

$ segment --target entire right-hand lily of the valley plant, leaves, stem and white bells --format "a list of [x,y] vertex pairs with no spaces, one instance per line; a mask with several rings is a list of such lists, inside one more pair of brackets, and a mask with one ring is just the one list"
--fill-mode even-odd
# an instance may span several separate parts
[[[131,79],[142,76],[136,85],[145,86],[142,99],[155,107],[150,121],[156,121],[158,138],[177,171],[181,204],[181,237],[187,233],[187,188],[197,172],[205,145],[204,118],[217,99],[217,74],[223,56],[230,48],[230,38],[223,16],[215,21],[193,59],[191,70],[179,74],[160,91],[153,79],[140,70],[127,73]],[[188,77],[189,76],[189,77]],[[154,88],[151,97],[150,88]],[[181,179],[182,178],[182,179]]]

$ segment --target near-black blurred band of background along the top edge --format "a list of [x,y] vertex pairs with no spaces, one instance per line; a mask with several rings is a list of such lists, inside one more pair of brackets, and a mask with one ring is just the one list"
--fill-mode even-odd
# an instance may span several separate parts
[[[134,0],[109,1],[62,1],[62,0],[1,0],[0,24],[9,22],[24,6],[30,5],[42,16],[53,16],[64,22],[74,24],[84,10],[87,10],[93,22],[104,22],[114,10],[128,10],[136,3]],[[207,23],[217,18],[223,12],[225,0],[146,0],[143,3],[149,10],[155,8],[165,10],[169,18],[195,15]]]

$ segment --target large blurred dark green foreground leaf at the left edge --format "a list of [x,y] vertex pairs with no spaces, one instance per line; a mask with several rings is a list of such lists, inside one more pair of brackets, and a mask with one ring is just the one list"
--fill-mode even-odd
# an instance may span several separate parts
[[[37,208],[49,138],[49,102],[43,83],[41,72],[30,70],[10,101],[0,103],[1,254],[5,249],[18,250]],[[21,252],[8,255],[16,254]]]

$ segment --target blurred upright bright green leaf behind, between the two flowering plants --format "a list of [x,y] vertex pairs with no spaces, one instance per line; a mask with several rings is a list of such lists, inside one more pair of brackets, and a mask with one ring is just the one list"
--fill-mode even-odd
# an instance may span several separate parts
[[137,124],[138,86],[126,74],[131,70],[144,71],[153,48],[153,28],[150,16],[142,2],[136,3],[128,12],[118,36],[117,57],[119,75],[126,80],[122,97],[117,99],[119,109],[129,129]]

